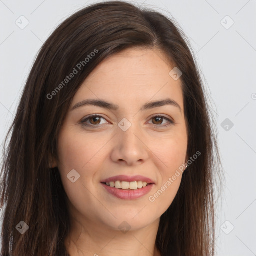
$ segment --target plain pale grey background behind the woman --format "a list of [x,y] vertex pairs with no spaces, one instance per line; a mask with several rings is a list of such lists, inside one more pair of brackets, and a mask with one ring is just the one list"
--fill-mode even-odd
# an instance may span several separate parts
[[[42,43],[64,19],[94,2],[0,0],[0,150]],[[216,254],[256,255],[256,0],[131,2],[174,18],[191,43],[214,102],[224,168]],[[15,22],[29,24],[21,29]]]

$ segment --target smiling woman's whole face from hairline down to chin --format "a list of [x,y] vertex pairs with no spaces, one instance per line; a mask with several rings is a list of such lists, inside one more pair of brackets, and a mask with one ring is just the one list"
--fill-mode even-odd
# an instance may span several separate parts
[[[69,211],[84,224],[136,230],[172,203],[187,149],[181,79],[172,68],[158,50],[126,49],[101,62],[75,94],[55,163]],[[177,105],[151,104],[164,99]]]

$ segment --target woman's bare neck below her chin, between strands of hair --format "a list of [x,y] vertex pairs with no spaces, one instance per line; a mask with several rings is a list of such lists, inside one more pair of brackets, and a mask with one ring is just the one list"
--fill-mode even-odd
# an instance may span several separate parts
[[71,231],[65,239],[65,246],[70,256],[160,256],[155,246],[159,220],[124,233],[76,215],[71,218]]

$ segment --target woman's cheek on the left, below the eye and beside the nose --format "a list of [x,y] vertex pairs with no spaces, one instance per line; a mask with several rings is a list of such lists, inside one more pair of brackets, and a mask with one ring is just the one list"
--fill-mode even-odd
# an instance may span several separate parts
[[[88,192],[87,189],[89,191],[95,189],[93,185],[97,170],[104,162],[103,149],[107,140],[100,136],[89,136],[83,131],[74,131],[72,127],[66,127],[59,133],[58,141],[59,161],[57,165],[61,180],[70,201],[75,203],[77,198],[83,198]],[[70,176],[69,173],[73,169],[79,177],[74,183],[67,176]],[[88,198],[89,196],[86,200],[89,200]]]

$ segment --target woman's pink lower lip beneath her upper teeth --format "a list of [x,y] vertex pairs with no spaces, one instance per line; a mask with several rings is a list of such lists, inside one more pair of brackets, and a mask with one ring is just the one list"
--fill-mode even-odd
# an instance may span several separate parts
[[107,186],[103,183],[101,183],[104,188],[106,189],[107,192],[110,194],[114,195],[117,198],[120,199],[127,199],[127,200],[132,200],[132,199],[137,199],[142,197],[143,195],[149,193],[149,191],[152,189],[154,184],[148,184],[145,187],[134,189],[134,190],[124,190],[124,189],[118,189],[115,187],[110,187]]

